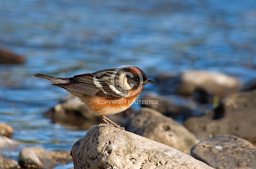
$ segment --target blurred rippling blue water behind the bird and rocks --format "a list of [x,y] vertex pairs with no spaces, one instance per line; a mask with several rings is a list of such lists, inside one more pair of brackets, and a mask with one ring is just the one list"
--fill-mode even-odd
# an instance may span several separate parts
[[26,147],[70,150],[86,131],[43,117],[68,93],[34,72],[135,65],[149,77],[204,69],[246,82],[256,77],[256,1],[2,0],[0,47],[26,56],[0,65],[0,122]]

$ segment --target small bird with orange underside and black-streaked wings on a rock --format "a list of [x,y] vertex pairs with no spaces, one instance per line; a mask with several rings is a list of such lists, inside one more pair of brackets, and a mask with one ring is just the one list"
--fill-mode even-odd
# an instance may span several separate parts
[[149,80],[140,68],[130,65],[70,78],[56,78],[40,73],[35,73],[34,76],[49,80],[54,83],[52,85],[61,87],[79,97],[89,112],[100,116],[106,123],[99,126],[115,126],[119,129],[124,128],[105,115],[125,111],[137,99],[145,84],[156,83]]

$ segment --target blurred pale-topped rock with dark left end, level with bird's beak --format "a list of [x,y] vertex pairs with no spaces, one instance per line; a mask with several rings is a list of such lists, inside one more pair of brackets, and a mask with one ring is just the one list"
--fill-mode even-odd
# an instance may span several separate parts
[[195,89],[205,90],[210,95],[225,97],[241,88],[241,82],[234,77],[219,72],[205,70],[188,70],[180,75],[160,74],[156,82],[163,94],[191,96]]

